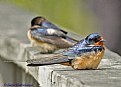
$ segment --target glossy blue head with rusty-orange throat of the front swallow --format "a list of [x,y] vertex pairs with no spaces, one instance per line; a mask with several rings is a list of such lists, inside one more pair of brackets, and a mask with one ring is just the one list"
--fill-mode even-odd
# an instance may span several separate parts
[[85,38],[85,40],[89,45],[98,45],[98,46],[103,46],[105,41],[98,33],[89,34]]

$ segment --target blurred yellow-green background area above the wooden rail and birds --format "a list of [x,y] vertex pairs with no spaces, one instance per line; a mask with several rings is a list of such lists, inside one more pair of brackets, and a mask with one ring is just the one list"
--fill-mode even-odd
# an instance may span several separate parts
[[[5,0],[3,0],[5,1]],[[6,0],[81,35],[98,32],[85,0]]]

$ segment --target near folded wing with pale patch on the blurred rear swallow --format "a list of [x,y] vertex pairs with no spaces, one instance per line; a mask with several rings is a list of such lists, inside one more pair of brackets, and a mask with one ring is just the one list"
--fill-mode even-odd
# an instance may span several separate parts
[[40,27],[31,29],[31,35],[33,39],[56,45],[58,48],[68,48],[74,44],[63,38],[65,34],[61,31],[50,28]]

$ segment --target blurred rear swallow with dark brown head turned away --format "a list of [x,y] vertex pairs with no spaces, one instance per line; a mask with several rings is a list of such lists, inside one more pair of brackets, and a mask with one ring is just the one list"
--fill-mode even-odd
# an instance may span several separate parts
[[40,16],[32,19],[27,35],[32,46],[40,48],[41,53],[68,48],[78,42],[78,40],[68,37],[66,31]]

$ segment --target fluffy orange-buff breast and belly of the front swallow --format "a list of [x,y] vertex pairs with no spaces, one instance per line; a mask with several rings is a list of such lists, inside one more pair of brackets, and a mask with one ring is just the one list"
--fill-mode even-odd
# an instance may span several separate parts
[[103,55],[104,50],[89,55],[81,55],[72,60],[72,67],[74,69],[97,69]]

